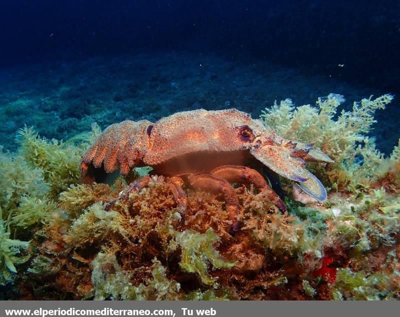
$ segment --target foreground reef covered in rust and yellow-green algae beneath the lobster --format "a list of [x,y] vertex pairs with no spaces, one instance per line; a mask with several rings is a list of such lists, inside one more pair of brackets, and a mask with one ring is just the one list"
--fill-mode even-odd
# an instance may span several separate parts
[[146,167],[80,184],[80,155],[97,125],[66,142],[25,127],[20,149],[0,153],[4,299],[398,299],[400,143],[384,157],[367,136],[391,99],[339,112],[343,96],[329,94],[316,106],[286,99],[266,109],[269,128],[334,160],[307,165],[328,199],[281,179],[285,215],[251,184],[235,184],[237,232],[212,193],[184,187],[182,213],[162,175],[118,200]]

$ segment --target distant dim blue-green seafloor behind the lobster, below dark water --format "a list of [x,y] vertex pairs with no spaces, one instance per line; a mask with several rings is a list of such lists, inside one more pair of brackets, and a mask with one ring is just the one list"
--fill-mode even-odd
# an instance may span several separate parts
[[[345,67],[346,65],[343,65]],[[339,68],[340,65],[337,65]],[[189,52],[92,57],[0,69],[0,139],[15,150],[15,131],[33,126],[49,139],[68,139],[124,119],[157,120],[176,111],[235,107],[258,117],[285,98],[314,104],[329,93],[352,102],[392,91],[318,75],[318,69],[292,69],[266,61]],[[335,71],[337,73],[337,71]],[[390,153],[397,144],[398,100],[378,111],[377,147]]]

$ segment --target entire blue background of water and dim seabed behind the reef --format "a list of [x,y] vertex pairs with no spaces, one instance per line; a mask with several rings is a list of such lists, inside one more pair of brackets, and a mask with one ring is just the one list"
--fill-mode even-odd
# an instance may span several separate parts
[[[4,0],[0,43],[0,136],[11,149],[23,124],[66,138],[90,121],[197,107],[257,116],[274,99],[335,92],[351,106],[400,90],[394,0]],[[385,152],[399,111],[396,98],[377,113]]]

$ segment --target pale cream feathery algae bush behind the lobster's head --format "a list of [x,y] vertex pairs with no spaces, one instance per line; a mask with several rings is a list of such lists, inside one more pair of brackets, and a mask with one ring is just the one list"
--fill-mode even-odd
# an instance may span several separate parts
[[[285,99],[280,104],[275,101],[271,108],[266,108],[261,118],[267,127],[275,129],[281,136],[312,143],[314,148],[321,149],[332,158],[332,182],[339,177],[342,177],[341,181],[345,177],[360,181],[376,176],[374,169],[383,155],[375,149],[373,140],[366,133],[376,122],[373,118],[375,111],[384,109],[392,99],[391,94],[374,99],[372,96],[364,98],[353,103],[352,111],[342,110],[337,119],[337,108],[345,101],[340,94],[330,93],[325,98],[318,98],[316,106],[295,107],[290,99]],[[362,163],[355,160],[356,155],[362,157]]]

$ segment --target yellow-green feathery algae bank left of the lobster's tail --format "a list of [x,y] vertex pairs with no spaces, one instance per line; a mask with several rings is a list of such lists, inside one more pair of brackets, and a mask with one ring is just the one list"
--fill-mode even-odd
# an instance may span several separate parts
[[15,265],[34,258],[29,244],[37,241],[28,240],[56,217],[54,198],[61,188],[79,181],[78,153],[84,149],[48,142],[26,127],[18,141],[17,153],[0,152],[0,284],[16,277]]

